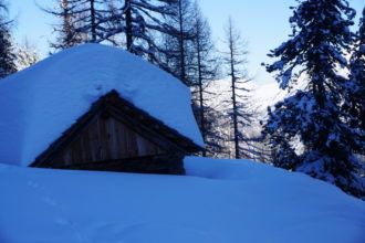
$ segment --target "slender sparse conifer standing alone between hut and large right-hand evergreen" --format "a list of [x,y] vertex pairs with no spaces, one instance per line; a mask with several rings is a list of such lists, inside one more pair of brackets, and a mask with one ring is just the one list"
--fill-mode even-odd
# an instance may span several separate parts
[[244,70],[247,51],[243,47],[246,44],[242,42],[239,31],[233,27],[231,19],[228,21],[226,35],[228,51],[225,52],[223,63],[231,82],[229,115],[233,127],[234,158],[249,158],[250,151],[243,146],[250,140],[244,135],[244,130],[252,122],[252,114],[248,109],[248,92],[250,89],[244,87],[249,82]]

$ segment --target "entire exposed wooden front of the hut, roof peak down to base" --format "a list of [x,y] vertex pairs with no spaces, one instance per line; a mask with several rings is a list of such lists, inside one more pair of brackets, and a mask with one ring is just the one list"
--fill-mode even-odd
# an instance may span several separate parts
[[113,91],[31,166],[182,173],[184,155],[201,149]]

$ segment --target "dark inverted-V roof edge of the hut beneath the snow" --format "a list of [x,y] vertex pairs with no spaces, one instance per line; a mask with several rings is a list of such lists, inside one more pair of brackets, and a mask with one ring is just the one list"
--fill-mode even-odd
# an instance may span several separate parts
[[[194,144],[189,138],[186,138],[175,129],[165,126],[161,122],[119,97],[117,92],[112,91],[97,99],[87,113],[82,115],[75,124],[64,131],[60,138],[52,142],[52,145],[30,166],[58,168],[58,166],[53,163],[54,158],[60,155],[60,151],[71,146],[72,142],[84,133],[85,128],[87,129],[87,126],[95,122],[95,117],[98,116],[104,117],[104,119],[107,117],[116,118],[119,123],[123,123],[134,133],[139,134],[164,151],[191,154],[202,150],[201,147]],[[82,162],[85,163],[85,161],[75,162],[76,165],[73,166],[80,166],[77,163]],[[95,161],[88,162],[95,163]],[[106,161],[104,160],[103,165],[105,162]]]

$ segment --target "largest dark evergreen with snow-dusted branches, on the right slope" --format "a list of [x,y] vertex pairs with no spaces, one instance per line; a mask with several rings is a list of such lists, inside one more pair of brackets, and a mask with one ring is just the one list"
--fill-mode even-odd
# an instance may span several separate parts
[[[274,165],[302,171],[338,186],[357,197],[364,196],[356,178],[358,160],[353,150],[364,148],[358,130],[346,124],[346,77],[338,68],[347,66],[354,10],[346,0],[300,0],[290,19],[291,39],[269,56],[278,57],[268,72],[279,72],[281,88],[294,87],[299,78],[303,91],[269,110],[263,134],[270,136]],[[295,148],[300,144],[303,149]]]

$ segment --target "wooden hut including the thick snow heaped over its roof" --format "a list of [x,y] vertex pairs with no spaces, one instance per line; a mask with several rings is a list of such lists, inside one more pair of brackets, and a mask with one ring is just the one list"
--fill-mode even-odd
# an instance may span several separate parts
[[179,81],[125,51],[85,44],[0,84],[0,162],[182,175],[204,149]]

